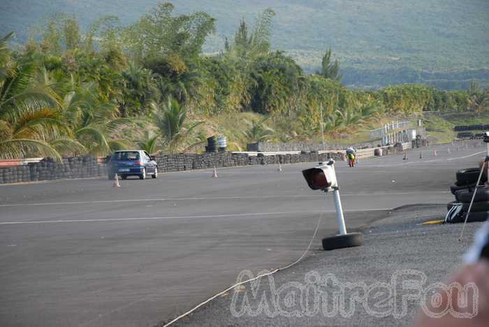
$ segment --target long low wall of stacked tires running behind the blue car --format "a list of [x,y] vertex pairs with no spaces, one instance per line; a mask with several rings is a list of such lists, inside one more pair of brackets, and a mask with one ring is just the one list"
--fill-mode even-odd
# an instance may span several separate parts
[[[340,152],[321,153],[317,151],[298,154],[275,154],[250,156],[243,153],[212,152],[205,154],[167,154],[156,157],[159,173],[184,170],[212,169],[235,166],[281,165],[342,159]],[[71,157],[61,162],[50,158],[24,166],[0,168],[0,184],[38,182],[44,180],[69,180],[75,178],[107,177],[105,163],[98,163],[96,157]],[[115,177],[115,176],[114,176]]]

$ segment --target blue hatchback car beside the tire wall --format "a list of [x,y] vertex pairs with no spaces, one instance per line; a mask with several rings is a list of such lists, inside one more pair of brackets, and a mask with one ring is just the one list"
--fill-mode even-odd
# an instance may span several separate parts
[[158,163],[143,150],[117,151],[108,161],[109,179],[115,179],[115,174],[123,180],[128,176],[138,176],[140,180],[145,180],[147,175],[158,178]]

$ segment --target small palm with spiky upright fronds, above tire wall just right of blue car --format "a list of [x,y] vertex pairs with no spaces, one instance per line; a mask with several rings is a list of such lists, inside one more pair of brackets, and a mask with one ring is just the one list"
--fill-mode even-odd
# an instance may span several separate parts
[[203,122],[187,124],[187,108],[168,97],[166,103],[156,112],[155,123],[159,128],[163,145],[170,153],[177,152],[189,140],[192,131]]

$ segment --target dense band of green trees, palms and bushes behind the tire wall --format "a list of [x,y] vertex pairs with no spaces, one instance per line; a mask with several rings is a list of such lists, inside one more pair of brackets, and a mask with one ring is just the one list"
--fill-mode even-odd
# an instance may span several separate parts
[[321,124],[329,139],[355,138],[386,118],[488,110],[488,90],[476,84],[456,92],[346,89],[331,50],[306,74],[271,50],[270,9],[254,24],[242,20],[219,53],[204,55],[214,18],[174,10],[160,3],[129,26],[108,16],[84,30],[57,14],[15,49],[13,34],[2,36],[0,157],[200,152],[215,133],[239,150],[257,140],[317,141]]

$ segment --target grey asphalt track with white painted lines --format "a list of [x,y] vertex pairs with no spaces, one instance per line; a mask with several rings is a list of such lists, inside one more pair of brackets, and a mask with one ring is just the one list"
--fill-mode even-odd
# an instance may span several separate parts
[[[439,145],[337,163],[346,225],[403,205],[447,203],[458,168],[485,147]],[[433,150],[437,157],[433,157]],[[154,326],[235,282],[285,266],[337,231],[334,205],[307,188],[313,163],[222,168],[124,180],[0,187],[1,326]],[[314,249],[321,245],[314,242]]]

